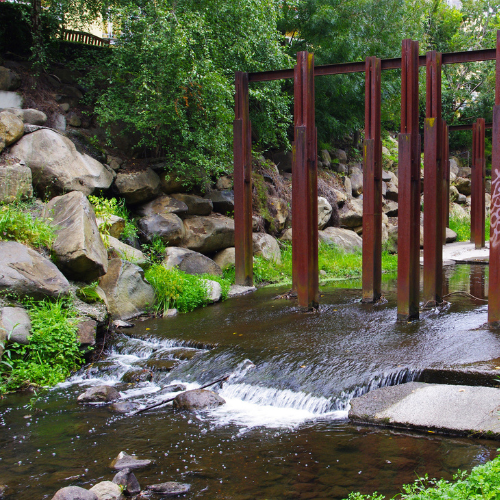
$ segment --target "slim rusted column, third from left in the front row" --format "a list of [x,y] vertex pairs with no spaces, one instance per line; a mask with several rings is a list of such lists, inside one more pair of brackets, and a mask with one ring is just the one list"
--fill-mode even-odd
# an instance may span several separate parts
[[382,293],[382,141],[380,59],[366,58],[363,148],[363,302]]

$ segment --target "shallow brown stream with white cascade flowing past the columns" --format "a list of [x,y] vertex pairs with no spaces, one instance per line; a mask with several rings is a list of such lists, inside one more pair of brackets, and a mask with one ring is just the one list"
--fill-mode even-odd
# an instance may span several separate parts
[[[471,269],[473,270],[471,272]],[[486,276],[485,276],[486,274]],[[487,268],[445,271],[450,291],[484,298]],[[496,456],[496,443],[362,427],[349,423],[352,397],[415,380],[426,368],[495,360],[500,332],[485,326],[487,306],[470,297],[397,323],[394,281],[386,302],[361,304],[360,290],[322,287],[319,313],[274,300],[261,289],[171,319],[138,321],[115,336],[105,361],[85,367],[29,405],[0,401],[0,484],[5,498],[51,498],[63,486],[111,480],[124,450],[153,464],[142,486],[169,480],[193,497],[340,499],[350,491],[395,494],[424,473],[451,478]],[[153,373],[151,380],[127,383]],[[86,387],[115,385],[141,408],[230,375],[227,401],[200,413],[171,405],[129,416],[78,405]]]

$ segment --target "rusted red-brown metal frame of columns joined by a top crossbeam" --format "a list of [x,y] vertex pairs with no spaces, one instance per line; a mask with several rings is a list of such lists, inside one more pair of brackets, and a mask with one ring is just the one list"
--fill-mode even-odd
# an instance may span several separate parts
[[[314,67],[312,54],[297,54],[294,69],[260,73],[236,73],[234,121],[235,159],[235,246],[236,282],[251,284],[251,139],[248,112],[248,84],[294,78],[295,129],[293,160],[292,245],[293,286],[299,306],[318,305],[317,261],[317,165],[314,124],[314,78],[322,75],[366,73],[363,300],[380,296],[381,260],[381,157],[380,80],[381,71],[402,70],[401,133],[399,134],[399,236],[398,236],[398,319],[418,317],[420,241],[420,136],[418,131],[418,68],[427,69],[427,108],[424,126],[424,298],[440,302],[442,244],[448,220],[449,186],[448,127],[441,117],[441,66],[496,60],[495,107],[493,110],[492,208],[488,321],[500,321],[500,31],[495,49],[418,55],[418,42],[404,40],[402,57]],[[467,126],[466,126],[467,127]],[[470,128],[470,127],[467,127]],[[450,127],[457,130],[459,127]],[[483,124],[484,133],[484,124]],[[380,172],[381,173],[381,172]],[[299,199],[297,199],[299,198]],[[443,209],[444,205],[444,209]],[[426,215],[427,214],[427,215]],[[380,219],[380,224],[379,224]],[[315,223],[316,221],[316,223]]]

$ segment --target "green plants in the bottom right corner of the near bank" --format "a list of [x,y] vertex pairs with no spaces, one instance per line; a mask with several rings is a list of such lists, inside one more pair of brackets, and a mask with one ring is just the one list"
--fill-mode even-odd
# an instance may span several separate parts
[[[500,457],[474,467],[470,474],[458,472],[454,482],[444,479],[429,480],[427,476],[402,487],[394,497],[400,500],[496,500],[500,499]],[[388,497],[374,493],[351,493],[349,500],[386,500]]]

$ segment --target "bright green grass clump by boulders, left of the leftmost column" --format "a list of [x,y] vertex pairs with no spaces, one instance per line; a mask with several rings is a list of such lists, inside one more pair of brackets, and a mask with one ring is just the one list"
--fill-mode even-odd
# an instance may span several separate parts
[[161,314],[167,309],[176,308],[180,312],[189,312],[208,304],[207,279],[222,285],[222,299],[227,298],[230,283],[224,278],[210,275],[192,275],[179,269],[167,269],[162,264],[153,264],[145,278],[151,283],[156,293],[155,310]]

